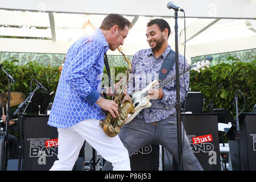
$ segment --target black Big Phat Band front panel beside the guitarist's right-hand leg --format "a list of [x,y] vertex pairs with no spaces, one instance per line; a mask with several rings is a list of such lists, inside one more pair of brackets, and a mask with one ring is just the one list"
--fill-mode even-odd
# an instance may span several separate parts
[[203,169],[205,171],[220,171],[217,115],[185,114],[184,126],[192,151]]

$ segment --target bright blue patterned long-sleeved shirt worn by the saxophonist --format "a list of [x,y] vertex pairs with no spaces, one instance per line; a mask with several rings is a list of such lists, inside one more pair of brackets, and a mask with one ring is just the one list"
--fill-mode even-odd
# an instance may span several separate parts
[[95,102],[100,98],[104,53],[108,49],[98,28],[69,48],[48,125],[65,128],[84,119],[105,119]]

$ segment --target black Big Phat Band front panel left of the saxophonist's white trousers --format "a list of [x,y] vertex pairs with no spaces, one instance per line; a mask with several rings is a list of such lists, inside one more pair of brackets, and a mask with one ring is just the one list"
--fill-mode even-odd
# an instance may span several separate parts
[[24,171],[48,171],[57,160],[58,147],[55,146],[58,138],[57,128],[47,125],[48,119],[49,115],[24,114],[22,122]]

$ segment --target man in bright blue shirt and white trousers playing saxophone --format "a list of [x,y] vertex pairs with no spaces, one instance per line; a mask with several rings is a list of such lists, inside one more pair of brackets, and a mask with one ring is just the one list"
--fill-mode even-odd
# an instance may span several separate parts
[[131,23],[122,15],[109,14],[100,28],[69,48],[48,120],[59,133],[59,160],[50,170],[72,170],[84,140],[112,162],[114,170],[130,170],[129,154],[118,135],[110,138],[98,125],[106,117],[101,109],[118,116],[118,105],[102,98],[98,90],[104,53],[123,45],[130,28]]

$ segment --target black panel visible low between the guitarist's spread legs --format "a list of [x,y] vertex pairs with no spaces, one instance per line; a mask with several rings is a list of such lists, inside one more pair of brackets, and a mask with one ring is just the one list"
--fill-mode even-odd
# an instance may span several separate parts
[[130,157],[132,171],[158,171],[159,145],[150,144],[140,148]]

